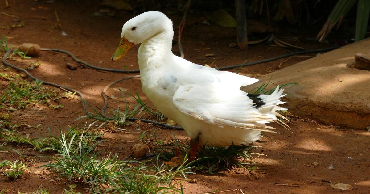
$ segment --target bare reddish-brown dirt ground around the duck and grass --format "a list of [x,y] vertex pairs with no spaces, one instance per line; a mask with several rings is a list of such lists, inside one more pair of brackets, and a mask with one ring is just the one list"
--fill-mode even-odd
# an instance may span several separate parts
[[[3,3],[3,2],[1,2]],[[29,1],[29,0],[9,0],[10,7],[0,8],[0,26],[24,21],[23,27],[12,29],[1,28],[0,35],[13,37],[9,43],[20,45],[24,42],[37,43],[44,48],[57,48],[68,50],[82,60],[92,65],[111,69],[124,69],[126,65],[129,69],[138,69],[137,50],[135,46],[120,61],[112,63],[111,56],[116,49],[121,34],[122,25],[135,15],[130,12],[117,11],[115,17],[93,16],[94,12],[100,9],[107,9],[98,5],[96,1],[83,2],[54,2]],[[109,9],[109,8],[108,8]],[[60,22],[60,29],[53,30],[56,25],[55,11],[57,11]],[[175,34],[181,15],[169,16],[174,21]],[[198,16],[189,15],[187,22],[196,21]],[[317,31],[301,31],[292,33],[290,29],[281,29],[277,36],[315,36]],[[62,35],[62,31],[66,36]],[[201,65],[211,65],[221,67],[227,65],[242,64],[246,59],[248,62],[265,59],[273,56],[282,55],[292,50],[285,49],[276,45],[261,43],[249,46],[249,50],[241,51],[236,47],[229,47],[229,43],[236,42],[235,29],[226,29],[219,26],[208,25],[188,25],[185,26],[182,34],[182,45],[185,58]],[[302,46],[305,49],[317,49],[330,47],[332,45],[320,45],[318,43],[300,42],[298,40],[287,40],[288,42]],[[209,49],[205,49],[209,48]],[[174,45],[174,52],[178,47]],[[208,53],[215,53],[212,57],[205,57]],[[304,56],[313,57],[317,53]],[[276,60],[254,66],[242,68],[240,73],[249,76],[264,75],[286,66],[307,59],[308,57],[294,57]],[[85,100],[96,108],[101,108],[103,100],[101,98],[102,89],[114,80],[122,77],[131,76],[125,73],[107,73],[90,68],[83,68],[79,65],[77,70],[66,68],[66,63],[78,65],[69,56],[55,52],[41,52],[39,57],[24,60],[23,63],[16,63],[18,66],[28,65],[30,61],[41,61],[43,64],[30,73],[41,80],[46,80],[60,85],[68,86],[82,92]],[[232,69],[236,72],[238,69]],[[132,74],[134,75],[134,74]],[[136,75],[136,74],[135,74]],[[4,90],[6,82],[0,83],[0,89]],[[108,96],[121,96],[117,89],[122,88],[131,93],[138,92],[144,102],[149,102],[141,91],[139,79],[131,79],[117,83],[112,86]],[[0,91],[1,92],[1,91]],[[59,132],[59,126],[63,129],[68,125],[75,126],[81,121],[75,121],[78,114],[83,111],[78,99],[61,99],[58,101],[64,108],[51,109],[41,108],[38,105],[20,111],[10,112],[14,122],[24,122],[31,126],[41,124],[40,128],[26,128],[19,131],[30,134],[31,137],[46,137],[48,127],[54,135]],[[116,109],[123,106],[121,99],[109,99],[107,110]],[[289,105],[289,103],[288,103]],[[0,109],[1,113],[7,113]],[[292,118],[294,118],[292,116]],[[290,126],[291,133],[284,131],[280,126],[281,134],[268,134],[272,139],[266,139],[264,144],[257,152],[264,155],[255,159],[259,167],[266,169],[266,174],[259,179],[250,180],[245,174],[240,174],[240,169],[221,171],[216,174],[190,175],[189,178],[197,179],[197,183],[184,183],[185,193],[207,193],[216,189],[232,190],[224,193],[369,193],[370,190],[370,165],[369,165],[369,145],[370,132],[352,130],[349,128],[335,128],[319,124],[308,119],[295,119]],[[157,130],[160,138],[176,137],[186,138],[184,131],[174,131],[158,126],[144,123],[135,123],[127,126],[127,132],[141,132],[148,130],[148,133]],[[130,154],[131,146],[135,143],[125,141],[137,141],[140,134],[128,134],[125,132],[106,133],[107,139],[101,145],[105,152],[118,152],[120,159],[124,159]],[[124,140],[124,141],[122,141]],[[22,153],[29,157],[40,155],[34,151],[27,151],[18,147]],[[0,160],[15,160],[17,155],[10,152],[0,152]],[[29,163],[29,170],[17,181],[9,181],[5,177],[0,177],[0,190],[5,189],[5,193],[31,192],[42,187],[50,193],[62,193],[63,188],[68,188],[67,183],[59,179],[50,178],[47,172],[37,169],[38,166],[48,163],[43,158],[35,157]],[[317,162],[319,165],[313,165]],[[333,165],[333,169],[329,169]],[[329,183],[322,181],[328,180],[352,185],[352,190],[341,191],[330,187]],[[78,185],[80,191],[85,191],[87,185]]]

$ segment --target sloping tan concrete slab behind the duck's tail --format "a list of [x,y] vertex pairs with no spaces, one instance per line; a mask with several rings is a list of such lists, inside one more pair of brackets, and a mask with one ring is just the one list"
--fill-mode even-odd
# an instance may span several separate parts
[[242,87],[250,91],[271,79],[268,88],[285,87],[289,111],[326,124],[364,129],[370,126],[370,71],[349,68],[354,56],[370,50],[370,38],[261,76]]

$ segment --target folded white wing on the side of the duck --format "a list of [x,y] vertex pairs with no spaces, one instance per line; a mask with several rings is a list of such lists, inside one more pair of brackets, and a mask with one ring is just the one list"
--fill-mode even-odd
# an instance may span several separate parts
[[213,82],[196,83],[193,79],[180,85],[172,99],[175,107],[188,116],[219,127],[275,132],[270,130],[275,128],[264,124],[276,116],[271,112],[261,113],[256,102],[240,90],[241,86],[257,79],[217,70],[212,74]]

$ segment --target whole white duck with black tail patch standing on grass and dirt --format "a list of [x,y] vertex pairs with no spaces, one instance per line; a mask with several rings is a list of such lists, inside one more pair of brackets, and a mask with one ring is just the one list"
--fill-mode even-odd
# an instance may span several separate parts
[[258,79],[218,71],[174,55],[172,21],[159,11],[148,11],[128,20],[121,42],[112,56],[120,59],[141,43],[138,63],[142,90],[158,110],[188,133],[189,157],[198,145],[246,145],[259,139],[266,126],[279,121],[276,111],[284,102],[278,88],[271,95],[253,95],[240,90]]

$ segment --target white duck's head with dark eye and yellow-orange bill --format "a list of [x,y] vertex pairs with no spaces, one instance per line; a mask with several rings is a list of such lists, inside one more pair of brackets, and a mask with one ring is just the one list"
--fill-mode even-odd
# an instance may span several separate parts
[[167,28],[172,30],[172,21],[159,11],[144,12],[128,20],[122,27],[120,45],[114,52],[112,61],[121,59],[132,46],[164,32]]

